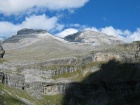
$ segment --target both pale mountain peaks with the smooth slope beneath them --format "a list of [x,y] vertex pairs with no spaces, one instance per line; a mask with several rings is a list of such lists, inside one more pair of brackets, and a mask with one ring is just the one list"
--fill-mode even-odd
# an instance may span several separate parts
[[[27,63],[82,56],[92,50],[104,48],[106,45],[109,47],[122,42],[113,36],[94,31],[83,31],[80,34],[71,35],[71,40],[75,39],[80,43],[70,41],[69,37],[64,40],[45,30],[22,29],[16,35],[6,39],[2,45],[7,53],[5,58],[9,62]],[[69,40],[66,41],[66,39]]]

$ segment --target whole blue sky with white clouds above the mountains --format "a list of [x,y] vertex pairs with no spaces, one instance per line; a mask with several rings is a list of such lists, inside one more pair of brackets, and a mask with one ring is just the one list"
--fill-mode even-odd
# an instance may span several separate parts
[[140,40],[140,0],[0,0],[0,39],[23,28],[65,37],[93,30]]

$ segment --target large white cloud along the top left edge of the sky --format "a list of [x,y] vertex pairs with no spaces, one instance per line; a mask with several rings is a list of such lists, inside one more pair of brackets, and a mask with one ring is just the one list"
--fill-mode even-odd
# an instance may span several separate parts
[[0,12],[5,15],[11,15],[32,10],[32,8],[48,10],[75,9],[84,6],[88,1],[89,0],[0,0]]

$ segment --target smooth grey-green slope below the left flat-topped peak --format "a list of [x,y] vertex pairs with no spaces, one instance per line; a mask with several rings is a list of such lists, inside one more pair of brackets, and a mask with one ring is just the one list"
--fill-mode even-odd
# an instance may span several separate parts
[[[10,46],[16,43],[11,43]],[[41,47],[40,47],[41,46]],[[3,47],[6,49],[5,43]],[[6,50],[4,58],[9,62],[42,62],[48,59],[84,55],[92,49],[90,45],[77,45],[50,38],[41,39],[31,45]]]

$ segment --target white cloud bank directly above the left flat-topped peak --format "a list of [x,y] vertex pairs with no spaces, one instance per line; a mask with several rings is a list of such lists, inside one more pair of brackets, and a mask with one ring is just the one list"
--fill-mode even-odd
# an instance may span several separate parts
[[58,23],[57,17],[47,17],[46,15],[33,15],[27,17],[21,24],[13,24],[10,22],[0,22],[0,37],[9,37],[15,34],[18,30],[22,28],[32,28],[32,29],[44,29],[47,31],[51,30],[62,30],[63,25]]

